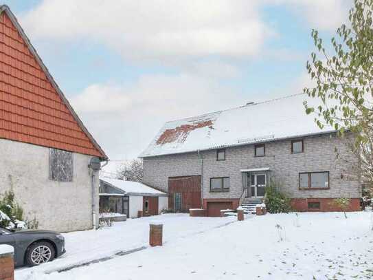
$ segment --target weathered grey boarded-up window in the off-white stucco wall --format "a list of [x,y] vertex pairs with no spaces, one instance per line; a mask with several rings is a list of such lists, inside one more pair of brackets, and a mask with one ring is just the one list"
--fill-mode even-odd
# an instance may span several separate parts
[[49,149],[49,179],[59,182],[71,182],[73,174],[73,154],[69,151]]

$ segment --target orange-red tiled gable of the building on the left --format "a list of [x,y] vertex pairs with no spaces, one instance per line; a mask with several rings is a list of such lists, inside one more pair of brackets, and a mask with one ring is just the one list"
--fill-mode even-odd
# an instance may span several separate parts
[[0,138],[107,159],[14,14],[7,6],[0,12]]

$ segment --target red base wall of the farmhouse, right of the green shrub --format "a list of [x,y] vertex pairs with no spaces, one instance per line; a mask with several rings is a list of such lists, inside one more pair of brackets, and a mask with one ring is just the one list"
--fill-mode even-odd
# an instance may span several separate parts
[[[336,206],[334,198],[293,198],[291,199],[291,206],[295,211],[306,212],[306,211],[319,211],[319,212],[328,212],[328,211],[341,211],[341,208]],[[313,210],[308,209],[308,202],[319,202],[320,209]],[[347,211],[361,211],[360,199],[352,198],[350,199],[350,207]]]

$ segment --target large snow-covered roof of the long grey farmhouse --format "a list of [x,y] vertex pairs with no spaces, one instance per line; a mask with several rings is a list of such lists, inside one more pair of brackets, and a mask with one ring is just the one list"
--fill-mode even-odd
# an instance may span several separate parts
[[315,116],[306,115],[304,100],[317,105],[306,95],[296,94],[166,122],[139,156],[202,151],[334,131],[331,127],[317,127]]

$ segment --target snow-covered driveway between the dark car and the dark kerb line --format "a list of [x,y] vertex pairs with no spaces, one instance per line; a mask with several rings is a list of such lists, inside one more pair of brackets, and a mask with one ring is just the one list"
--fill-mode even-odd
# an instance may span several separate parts
[[235,217],[189,217],[188,214],[163,214],[117,222],[111,228],[85,230],[63,234],[66,254],[35,268],[19,268],[16,279],[27,279],[30,272],[49,272],[77,263],[108,257],[116,252],[148,246],[150,222],[163,223],[163,241],[201,233],[236,221]]

